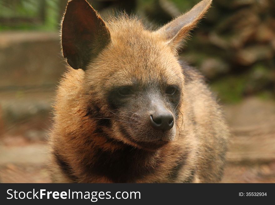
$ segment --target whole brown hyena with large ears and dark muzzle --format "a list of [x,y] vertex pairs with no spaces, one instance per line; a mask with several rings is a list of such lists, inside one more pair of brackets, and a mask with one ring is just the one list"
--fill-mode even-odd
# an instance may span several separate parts
[[210,7],[152,30],[68,2],[50,132],[51,177],[69,183],[219,182],[229,132],[203,77],[178,49]]

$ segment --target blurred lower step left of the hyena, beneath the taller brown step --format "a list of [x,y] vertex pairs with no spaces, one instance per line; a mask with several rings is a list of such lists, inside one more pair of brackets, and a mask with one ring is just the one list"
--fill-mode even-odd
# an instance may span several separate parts
[[53,90],[0,92],[0,136],[44,140],[51,126]]

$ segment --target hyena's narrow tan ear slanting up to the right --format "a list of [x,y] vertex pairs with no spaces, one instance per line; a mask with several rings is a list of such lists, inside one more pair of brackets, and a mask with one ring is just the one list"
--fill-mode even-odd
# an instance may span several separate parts
[[204,16],[211,2],[212,0],[199,2],[189,12],[177,17],[156,32],[164,38],[164,41],[167,41],[168,44],[177,49],[183,39],[188,36],[190,30],[192,30]]

